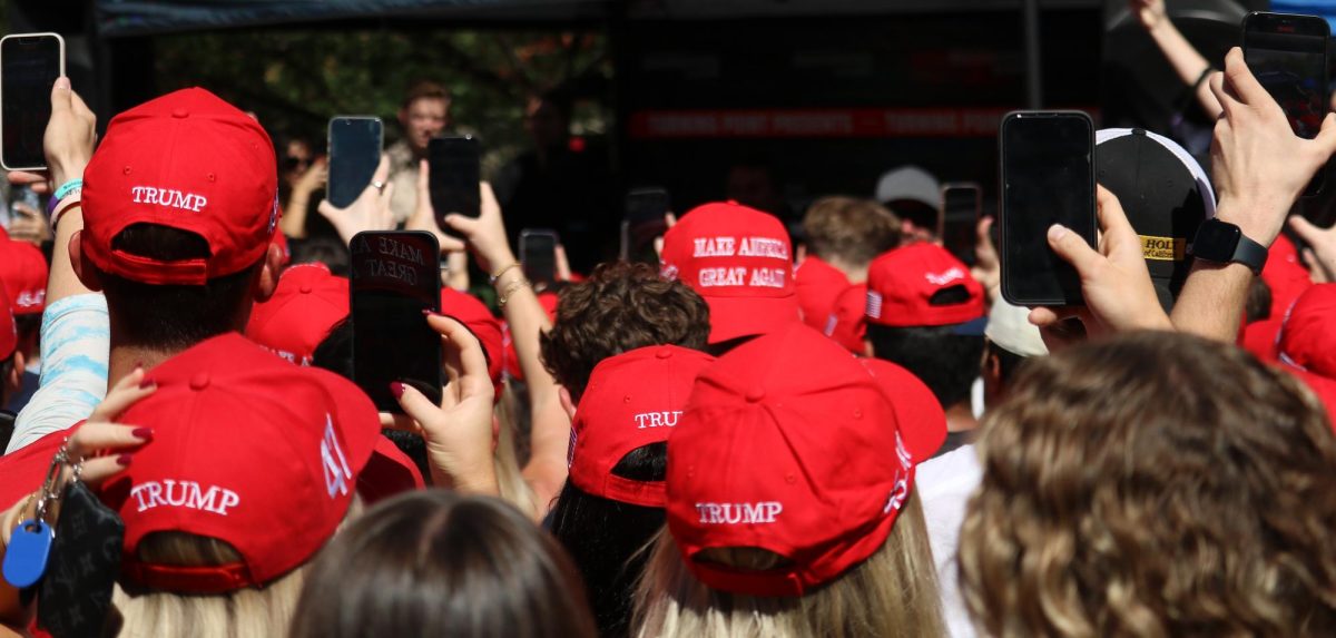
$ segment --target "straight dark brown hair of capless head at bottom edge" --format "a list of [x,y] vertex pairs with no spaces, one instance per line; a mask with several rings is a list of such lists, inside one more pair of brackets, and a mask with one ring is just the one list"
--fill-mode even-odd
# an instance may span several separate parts
[[307,567],[293,637],[593,637],[561,545],[485,497],[424,490],[385,501]]

